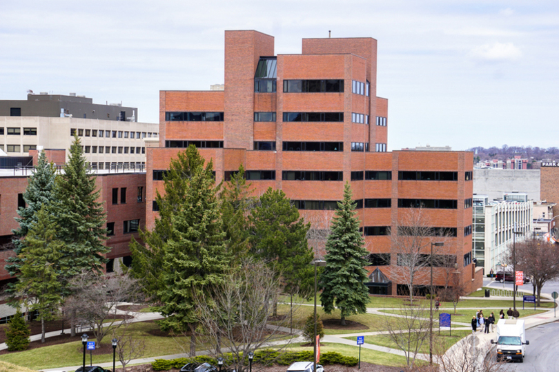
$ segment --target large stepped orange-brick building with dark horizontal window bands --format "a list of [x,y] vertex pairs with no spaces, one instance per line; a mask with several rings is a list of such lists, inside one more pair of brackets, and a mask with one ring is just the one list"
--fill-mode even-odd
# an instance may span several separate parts
[[[371,293],[401,292],[387,234],[418,205],[434,231],[452,236],[443,253],[454,256],[453,275],[467,290],[481,287],[471,264],[473,154],[386,152],[388,101],[376,95],[376,69],[372,38],[303,39],[302,54],[276,55],[269,35],[226,31],[224,90],[159,93],[159,141],[146,141],[146,225],[157,216],[162,171],[194,144],[213,159],[217,182],[242,163],[257,194],[282,189],[315,230],[350,181],[371,251]],[[434,269],[437,285],[442,271]]]

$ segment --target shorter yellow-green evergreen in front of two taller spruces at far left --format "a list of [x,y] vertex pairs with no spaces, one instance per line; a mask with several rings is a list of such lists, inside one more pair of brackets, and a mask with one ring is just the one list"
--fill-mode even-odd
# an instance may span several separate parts
[[31,309],[39,312],[41,319],[41,342],[45,342],[45,320],[52,318],[61,300],[59,273],[67,267],[58,267],[63,243],[57,238],[59,227],[43,206],[37,213],[37,223],[26,236],[21,251],[23,264],[16,290],[20,301],[31,303]]

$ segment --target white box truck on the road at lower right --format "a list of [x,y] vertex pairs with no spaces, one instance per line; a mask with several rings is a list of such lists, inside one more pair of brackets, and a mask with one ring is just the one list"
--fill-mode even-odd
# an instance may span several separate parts
[[491,344],[497,344],[497,361],[518,360],[524,362],[526,345],[526,330],[524,320],[500,319],[497,323],[497,341],[491,340]]

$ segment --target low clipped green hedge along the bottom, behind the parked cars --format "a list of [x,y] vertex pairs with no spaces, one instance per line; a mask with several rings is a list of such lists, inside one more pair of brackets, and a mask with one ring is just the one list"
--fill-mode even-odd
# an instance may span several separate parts
[[[242,358],[242,353],[239,355]],[[223,355],[224,365],[228,366],[233,364],[233,354],[225,353]],[[280,366],[288,366],[294,362],[304,362],[307,360],[313,360],[313,351],[289,351],[280,354],[279,352],[272,349],[259,350],[254,353],[254,362],[264,365],[271,365],[273,363],[280,364]],[[170,369],[180,369],[184,364],[187,363],[209,363],[217,365],[217,360],[208,355],[199,355],[193,358],[177,358],[171,360],[156,359],[155,362],[151,364],[154,371],[168,371]],[[337,353],[335,351],[328,351],[320,355],[320,364],[343,364],[344,366],[356,366],[357,358],[349,357]],[[248,363],[248,360],[246,360]]]

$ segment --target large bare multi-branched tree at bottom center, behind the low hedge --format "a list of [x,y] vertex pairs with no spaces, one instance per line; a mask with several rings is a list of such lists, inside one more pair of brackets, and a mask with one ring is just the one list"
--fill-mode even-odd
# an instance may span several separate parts
[[272,321],[273,304],[282,293],[277,278],[263,262],[246,260],[231,269],[221,285],[213,288],[212,298],[196,298],[200,337],[213,345],[215,354],[227,348],[233,354],[232,368],[236,371],[246,369],[249,351],[285,340],[286,333],[280,328],[288,326],[288,317],[275,318],[274,324],[268,324]]

